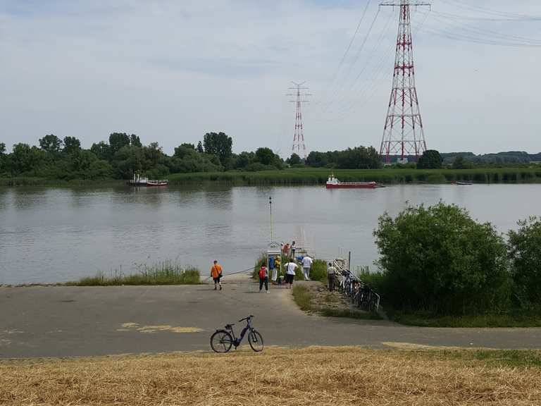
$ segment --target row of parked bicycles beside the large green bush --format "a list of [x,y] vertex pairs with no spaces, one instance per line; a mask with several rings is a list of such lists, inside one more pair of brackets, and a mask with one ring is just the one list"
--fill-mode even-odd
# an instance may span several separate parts
[[336,259],[334,264],[335,287],[340,293],[351,298],[352,304],[366,312],[378,312],[380,307],[380,295],[367,283],[361,281],[352,271],[346,269],[341,259]]

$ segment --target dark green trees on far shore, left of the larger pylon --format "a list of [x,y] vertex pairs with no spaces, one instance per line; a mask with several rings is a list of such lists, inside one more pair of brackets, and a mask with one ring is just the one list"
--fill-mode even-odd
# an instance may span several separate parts
[[305,165],[352,169],[381,166],[372,147],[311,152],[303,161],[297,154],[284,160],[268,147],[235,154],[232,145],[232,137],[225,133],[206,133],[197,145],[180,144],[168,155],[157,142],[143,145],[135,134],[112,133],[107,141],[94,143],[89,149],[84,149],[76,137],[61,139],[49,134],[39,139],[39,146],[18,143],[10,153],[0,142],[0,176],[97,180],[130,179],[135,173],[165,178],[170,173],[266,171]]

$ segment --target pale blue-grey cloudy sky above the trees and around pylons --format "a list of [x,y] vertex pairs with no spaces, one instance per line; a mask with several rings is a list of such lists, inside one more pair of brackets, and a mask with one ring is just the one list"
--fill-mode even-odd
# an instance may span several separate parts
[[[123,132],[170,154],[223,131],[287,157],[306,81],[309,151],[379,149],[398,9],[378,3],[0,0],[0,142]],[[541,152],[540,1],[434,0],[412,24],[429,149]]]

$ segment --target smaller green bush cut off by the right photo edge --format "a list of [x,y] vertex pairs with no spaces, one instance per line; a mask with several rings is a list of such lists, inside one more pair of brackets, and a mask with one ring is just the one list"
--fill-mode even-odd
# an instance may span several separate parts
[[509,231],[511,275],[523,307],[541,305],[541,221],[535,217],[519,221]]

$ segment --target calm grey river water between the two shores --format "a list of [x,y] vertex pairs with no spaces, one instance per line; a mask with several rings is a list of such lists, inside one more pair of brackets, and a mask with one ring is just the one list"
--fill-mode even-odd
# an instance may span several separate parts
[[269,196],[275,240],[290,241],[303,228],[318,257],[351,250],[354,266],[372,268],[378,216],[396,214],[406,202],[459,204],[502,233],[518,219],[541,216],[541,185],[0,187],[0,284],[128,273],[164,260],[204,272],[215,258],[225,273],[247,269],[270,240]]

